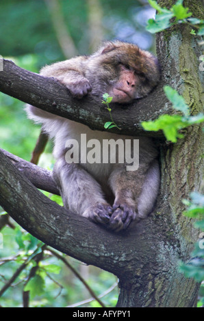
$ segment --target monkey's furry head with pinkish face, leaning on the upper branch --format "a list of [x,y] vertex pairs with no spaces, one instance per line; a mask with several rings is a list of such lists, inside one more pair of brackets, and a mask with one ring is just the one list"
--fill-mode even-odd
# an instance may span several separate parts
[[157,59],[134,44],[107,42],[86,64],[92,94],[120,104],[146,96],[160,80]]

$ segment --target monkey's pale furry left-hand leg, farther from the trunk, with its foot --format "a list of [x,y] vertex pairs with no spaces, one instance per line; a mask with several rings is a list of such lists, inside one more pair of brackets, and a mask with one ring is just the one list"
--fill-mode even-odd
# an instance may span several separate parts
[[53,178],[65,208],[97,223],[110,221],[112,207],[105,201],[101,186],[79,164],[68,164],[61,156],[55,163]]

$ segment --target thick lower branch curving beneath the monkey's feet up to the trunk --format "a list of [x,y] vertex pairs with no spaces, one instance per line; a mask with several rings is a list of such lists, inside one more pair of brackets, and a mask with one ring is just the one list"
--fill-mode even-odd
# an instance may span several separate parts
[[136,251],[136,240],[64,210],[40,193],[1,150],[0,160],[0,204],[19,225],[62,253],[118,276],[124,274],[122,266]]

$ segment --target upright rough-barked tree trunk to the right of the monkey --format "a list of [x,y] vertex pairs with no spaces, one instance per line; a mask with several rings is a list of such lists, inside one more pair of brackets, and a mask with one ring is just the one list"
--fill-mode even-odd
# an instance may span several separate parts
[[[169,1],[159,1],[168,7]],[[172,3],[170,3],[172,5]],[[202,18],[201,1],[184,1],[193,16]],[[201,39],[189,27],[177,26],[157,36],[157,55],[162,80],[179,89],[192,114],[203,112],[199,72]],[[133,279],[120,279],[118,307],[194,307],[198,285],[179,273],[179,260],[186,261],[198,237],[193,222],[182,215],[182,199],[199,191],[203,175],[203,132],[201,126],[186,130],[185,139],[161,146],[161,191],[157,208],[138,240],[139,254]]]

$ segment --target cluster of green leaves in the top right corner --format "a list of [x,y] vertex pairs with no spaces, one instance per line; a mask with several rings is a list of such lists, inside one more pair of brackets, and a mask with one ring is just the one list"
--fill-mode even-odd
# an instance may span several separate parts
[[[155,0],[148,0],[152,8],[157,10],[155,19],[149,19],[146,26],[146,30],[151,33],[160,32],[167,29],[177,23],[188,23],[198,30],[196,33],[194,29],[190,31],[193,35],[204,35],[204,20],[193,18],[192,12],[188,11],[188,8],[183,7],[183,0],[178,0],[170,10],[167,8],[161,8]],[[174,20],[170,20],[174,18]]]

